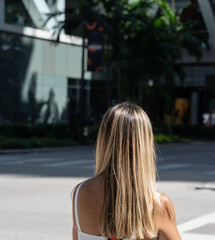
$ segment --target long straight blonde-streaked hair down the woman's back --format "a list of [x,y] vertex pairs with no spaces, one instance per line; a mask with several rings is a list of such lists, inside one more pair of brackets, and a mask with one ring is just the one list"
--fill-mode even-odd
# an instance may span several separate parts
[[116,239],[157,236],[156,168],[150,120],[141,107],[111,107],[101,122],[95,176],[105,178],[100,231]]

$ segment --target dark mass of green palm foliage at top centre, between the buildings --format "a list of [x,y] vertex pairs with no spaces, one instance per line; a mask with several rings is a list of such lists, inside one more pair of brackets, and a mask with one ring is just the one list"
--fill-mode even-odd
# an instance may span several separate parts
[[[113,70],[113,79],[108,79],[112,80],[112,98],[135,99],[146,108],[150,105],[148,81],[153,79],[160,86],[164,111],[171,115],[175,75],[182,83],[185,79],[180,65],[184,52],[197,60],[202,57],[206,41],[198,34],[199,23],[182,21],[185,9],[174,12],[165,0],[85,0],[73,6],[66,12],[65,22],[59,24],[59,32],[69,26],[69,34],[83,36],[87,21],[103,25],[104,65]],[[165,86],[161,86],[163,82]]]

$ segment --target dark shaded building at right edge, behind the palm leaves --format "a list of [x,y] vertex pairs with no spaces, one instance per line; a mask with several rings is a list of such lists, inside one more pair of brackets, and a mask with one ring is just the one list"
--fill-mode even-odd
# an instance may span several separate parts
[[215,124],[215,1],[214,0],[167,0],[176,11],[192,2],[183,20],[201,22],[197,32],[208,38],[208,46],[202,45],[203,57],[197,60],[184,53],[181,64],[185,80],[176,79],[176,123]]

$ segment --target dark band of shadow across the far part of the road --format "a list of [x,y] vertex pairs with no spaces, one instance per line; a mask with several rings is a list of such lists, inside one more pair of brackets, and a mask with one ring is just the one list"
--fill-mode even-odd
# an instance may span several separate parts
[[[95,146],[82,146],[67,149],[55,149],[49,152],[37,152],[17,155],[0,155],[0,175],[26,175],[46,177],[91,177],[94,174]],[[215,142],[191,142],[159,145],[158,180],[209,182],[215,180]],[[2,159],[3,160],[2,160]],[[2,164],[4,161],[14,164]],[[11,160],[17,158],[18,160]],[[20,160],[21,159],[21,160]],[[36,164],[34,162],[36,159]],[[62,166],[44,166],[48,163],[66,162]],[[48,160],[47,160],[48,159]],[[84,160],[85,159],[85,160]],[[23,164],[18,164],[24,160]],[[29,162],[28,162],[29,160]],[[37,161],[39,160],[40,163]],[[80,160],[80,164],[68,163]],[[17,164],[16,164],[17,161]],[[85,163],[81,164],[81,162]],[[203,189],[196,189],[203,190]],[[214,191],[214,189],[211,189]]]

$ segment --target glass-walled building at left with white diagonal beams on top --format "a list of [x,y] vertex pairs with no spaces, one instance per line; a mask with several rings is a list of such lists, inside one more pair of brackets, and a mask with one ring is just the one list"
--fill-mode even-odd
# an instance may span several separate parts
[[[54,28],[66,0],[0,1],[0,123],[77,121],[82,39]],[[86,59],[85,59],[86,60]],[[86,61],[85,61],[86,62]],[[90,74],[85,74],[89,104]]]

